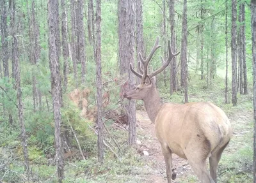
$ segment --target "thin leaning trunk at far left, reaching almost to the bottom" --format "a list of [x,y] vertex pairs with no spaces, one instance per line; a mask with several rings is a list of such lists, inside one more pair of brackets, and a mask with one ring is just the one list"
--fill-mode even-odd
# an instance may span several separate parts
[[[11,4],[9,4],[11,5]],[[16,38],[16,31],[17,28],[15,27],[15,0],[12,1],[12,20],[11,20],[11,27],[12,27],[12,57],[13,57],[13,68],[15,76],[15,89],[17,90],[17,101],[18,101],[18,117],[20,122],[20,136],[22,140],[22,150],[24,156],[24,171],[26,173],[29,172],[29,161],[28,161],[28,144],[27,144],[27,136],[26,136],[26,128],[24,123],[24,115],[23,115],[23,103],[22,103],[22,92],[20,89],[20,67],[19,67],[19,59],[18,59],[18,47],[17,47],[17,38]]]

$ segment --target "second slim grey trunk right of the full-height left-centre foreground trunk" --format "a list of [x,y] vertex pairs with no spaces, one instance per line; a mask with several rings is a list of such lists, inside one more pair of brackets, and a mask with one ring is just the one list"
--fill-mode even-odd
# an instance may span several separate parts
[[76,87],[78,87],[77,82],[77,47],[76,47],[76,4],[74,0],[70,0],[70,14],[71,14],[71,42],[72,42],[72,62],[73,62],[73,71],[74,71],[74,81]]

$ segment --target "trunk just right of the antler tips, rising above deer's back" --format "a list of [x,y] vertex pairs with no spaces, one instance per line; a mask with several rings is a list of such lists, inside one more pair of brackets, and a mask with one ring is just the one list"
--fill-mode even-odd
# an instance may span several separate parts
[[180,63],[181,63],[181,80],[180,85],[184,86],[185,92],[185,103],[188,103],[188,62],[187,62],[187,0],[183,1],[183,15],[182,15],[182,40],[181,40],[181,52],[180,52]]

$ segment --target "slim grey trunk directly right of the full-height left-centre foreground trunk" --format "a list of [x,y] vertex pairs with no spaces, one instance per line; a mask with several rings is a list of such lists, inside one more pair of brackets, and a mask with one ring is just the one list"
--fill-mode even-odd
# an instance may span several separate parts
[[61,0],[61,36],[62,36],[62,54],[64,59],[63,64],[63,87],[67,89],[68,85],[68,22],[67,22],[67,5],[66,0]]

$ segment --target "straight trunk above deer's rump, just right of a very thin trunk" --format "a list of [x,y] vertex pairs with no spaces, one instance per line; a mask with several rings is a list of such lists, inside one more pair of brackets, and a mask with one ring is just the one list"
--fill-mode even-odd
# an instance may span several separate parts
[[236,76],[237,76],[237,66],[236,66],[236,19],[237,19],[237,10],[236,10],[236,0],[232,0],[232,29],[231,29],[231,55],[232,55],[232,104],[237,105],[237,85],[236,85]]

